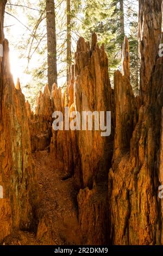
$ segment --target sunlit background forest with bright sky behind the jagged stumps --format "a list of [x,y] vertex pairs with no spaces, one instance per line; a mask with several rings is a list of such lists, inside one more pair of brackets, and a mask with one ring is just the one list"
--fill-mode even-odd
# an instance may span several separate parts
[[[51,11],[53,10],[53,11]],[[5,32],[10,41],[11,71],[20,77],[26,99],[35,106],[45,84],[63,89],[73,63],[79,36],[93,32],[104,44],[111,82],[121,70],[124,35],[130,42],[131,86],[139,92],[138,1],[133,0],[10,0],[5,10]],[[15,41],[17,42],[15,44]]]

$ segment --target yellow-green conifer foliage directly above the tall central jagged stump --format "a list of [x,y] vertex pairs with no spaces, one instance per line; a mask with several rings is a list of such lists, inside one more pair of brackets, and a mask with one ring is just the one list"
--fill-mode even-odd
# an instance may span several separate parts
[[114,70],[120,65],[121,51],[118,49],[117,29],[114,26],[115,6],[112,0],[85,1],[83,5],[82,32],[84,38],[90,40],[95,32],[99,45],[104,44],[109,58],[109,71],[113,76]]

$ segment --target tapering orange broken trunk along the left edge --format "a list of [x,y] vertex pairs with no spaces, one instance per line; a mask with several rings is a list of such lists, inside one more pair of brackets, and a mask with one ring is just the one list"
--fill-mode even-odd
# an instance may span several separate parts
[[9,45],[4,39],[3,18],[7,1],[0,3],[1,83],[0,83],[0,241],[12,229],[34,227],[37,193],[34,165],[30,148],[26,103],[20,89],[16,89],[9,68]]

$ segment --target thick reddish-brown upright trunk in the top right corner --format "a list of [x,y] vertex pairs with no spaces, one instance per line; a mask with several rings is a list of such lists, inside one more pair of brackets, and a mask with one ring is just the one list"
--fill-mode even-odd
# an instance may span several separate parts
[[[158,55],[158,48],[160,44],[162,19],[161,14],[161,0],[144,1],[139,0],[139,48],[140,48],[140,95],[142,103],[146,102],[148,90],[147,86],[151,78],[151,72],[155,65],[155,58]],[[143,8],[146,4],[146,8]],[[157,10],[152,12],[152,10]],[[149,11],[150,10],[150,11]],[[145,16],[146,15],[146,16]],[[152,15],[152,19],[151,19]],[[150,23],[145,27],[145,19]],[[153,22],[153,29],[151,29],[151,22]],[[153,46],[151,50],[151,45]]]

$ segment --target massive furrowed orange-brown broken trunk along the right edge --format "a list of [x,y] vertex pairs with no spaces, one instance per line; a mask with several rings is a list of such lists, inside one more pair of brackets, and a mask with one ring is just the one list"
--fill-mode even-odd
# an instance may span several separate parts
[[[141,97],[146,101],[139,109],[129,150],[121,157],[114,154],[109,172],[109,233],[114,245],[162,244],[157,163],[162,151],[163,59],[158,56],[161,2],[140,1]],[[126,87],[124,83],[123,87]],[[116,132],[121,131],[116,127]]]

